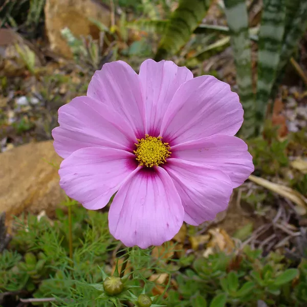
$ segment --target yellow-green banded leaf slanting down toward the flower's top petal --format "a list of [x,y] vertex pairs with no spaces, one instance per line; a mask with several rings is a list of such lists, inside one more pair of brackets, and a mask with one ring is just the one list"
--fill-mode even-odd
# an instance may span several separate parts
[[178,8],[170,19],[162,36],[156,61],[175,54],[190,39],[191,34],[204,18],[211,0],[180,0]]

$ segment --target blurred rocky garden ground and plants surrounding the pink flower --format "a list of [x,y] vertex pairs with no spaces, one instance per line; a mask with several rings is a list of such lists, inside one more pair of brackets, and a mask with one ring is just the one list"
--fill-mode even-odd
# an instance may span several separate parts
[[[119,257],[157,304],[306,306],[306,31],[305,0],[0,0],[0,304],[112,306],[90,284]],[[231,85],[255,171],[216,220],[140,251],[65,198],[51,130],[104,63],[146,58]]]

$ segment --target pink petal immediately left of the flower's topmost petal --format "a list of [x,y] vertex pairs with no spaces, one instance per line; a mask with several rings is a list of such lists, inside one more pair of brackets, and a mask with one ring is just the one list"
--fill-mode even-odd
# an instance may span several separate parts
[[145,134],[145,104],[140,78],[125,62],[115,61],[96,71],[87,89],[87,96],[114,108],[133,128],[136,135]]

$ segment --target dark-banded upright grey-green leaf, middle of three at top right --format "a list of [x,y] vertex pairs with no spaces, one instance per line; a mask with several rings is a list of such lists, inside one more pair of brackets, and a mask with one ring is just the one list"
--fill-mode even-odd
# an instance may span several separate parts
[[276,77],[286,20],[286,0],[266,0],[258,39],[256,117],[262,122]]

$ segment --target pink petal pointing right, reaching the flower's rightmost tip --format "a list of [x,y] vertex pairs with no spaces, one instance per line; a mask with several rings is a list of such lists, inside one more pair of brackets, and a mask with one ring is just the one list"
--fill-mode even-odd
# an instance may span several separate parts
[[236,188],[254,171],[253,157],[247,149],[246,143],[239,138],[214,135],[175,145],[171,151],[173,158],[211,165],[224,171]]

